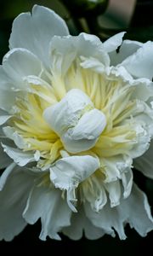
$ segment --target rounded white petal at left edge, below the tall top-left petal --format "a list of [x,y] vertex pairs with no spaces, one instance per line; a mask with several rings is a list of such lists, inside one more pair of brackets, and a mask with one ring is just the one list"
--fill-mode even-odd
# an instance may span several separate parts
[[26,90],[24,78],[28,75],[38,76],[41,71],[41,62],[27,49],[12,49],[3,57],[3,79],[7,76],[8,81],[11,81],[6,85],[9,90]]

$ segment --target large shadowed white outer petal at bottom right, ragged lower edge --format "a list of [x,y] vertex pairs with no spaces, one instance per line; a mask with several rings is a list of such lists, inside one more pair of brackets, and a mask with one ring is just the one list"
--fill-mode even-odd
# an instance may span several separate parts
[[107,204],[101,212],[93,212],[86,204],[85,212],[90,221],[105,233],[115,236],[114,228],[120,239],[125,239],[125,224],[129,223],[140,236],[146,236],[147,232],[153,230],[153,220],[150,215],[150,206],[146,195],[133,184],[132,193],[126,200],[122,200],[120,205],[111,208]]

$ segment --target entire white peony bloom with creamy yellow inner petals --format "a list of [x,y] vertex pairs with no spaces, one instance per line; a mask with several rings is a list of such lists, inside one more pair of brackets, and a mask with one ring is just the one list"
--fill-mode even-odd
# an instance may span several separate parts
[[[0,68],[0,239],[153,229],[133,166],[153,177],[153,43],[69,35],[54,11],[19,15]],[[146,152],[146,153],[145,153]]]

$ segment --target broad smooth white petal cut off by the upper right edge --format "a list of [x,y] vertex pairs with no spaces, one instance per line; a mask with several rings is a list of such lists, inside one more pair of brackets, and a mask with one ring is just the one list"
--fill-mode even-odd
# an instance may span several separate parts
[[135,78],[147,78],[152,80],[153,68],[153,42],[147,42],[136,53],[122,61],[121,65]]

